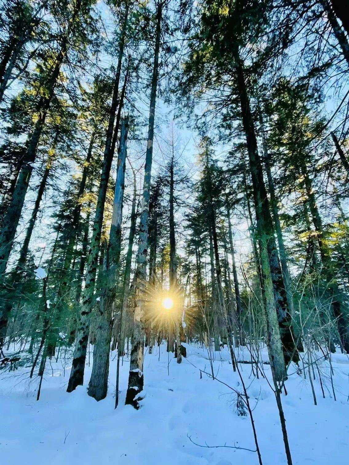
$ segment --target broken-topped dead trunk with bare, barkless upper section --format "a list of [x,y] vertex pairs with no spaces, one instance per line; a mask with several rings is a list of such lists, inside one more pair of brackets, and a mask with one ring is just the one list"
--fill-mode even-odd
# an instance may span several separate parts
[[120,149],[116,174],[113,219],[106,251],[103,286],[98,315],[98,327],[94,342],[94,361],[87,393],[96,400],[107,395],[109,351],[112,335],[112,314],[120,266],[122,206],[125,190],[128,118],[121,123]]

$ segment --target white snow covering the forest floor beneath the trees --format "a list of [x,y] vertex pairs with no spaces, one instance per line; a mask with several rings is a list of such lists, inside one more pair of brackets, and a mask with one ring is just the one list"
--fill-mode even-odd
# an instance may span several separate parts
[[[242,389],[230,356],[216,353],[217,379],[210,372],[208,353],[188,346],[181,365],[171,359],[166,346],[148,353],[144,360],[146,397],[139,411],[124,405],[128,360],[120,376],[120,403],[114,410],[116,360],[110,366],[107,398],[96,402],[87,396],[92,366],[86,367],[85,385],[66,392],[70,365],[47,364],[41,397],[36,401],[37,380],[28,383],[29,370],[0,371],[0,463],[6,465],[255,465],[257,454],[228,447],[255,449],[249,417],[238,416],[236,394]],[[112,353],[112,359],[114,358]],[[321,354],[320,354],[321,355]],[[319,355],[319,356],[320,356]],[[248,359],[248,354],[239,354]],[[267,359],[263,352],[263,359]],[[288,395],[282,395],[294,464],[344,464],[349,457],[349,360],[333,356],[332,393],[328,362],[321,362],[322,397],[314,381],[318,405],[314,405],[309,379],[289,369]],[[91,354],[92,363],[92,354]],[[320,362],[319,362],[320,363]],[[275,396],[265,379],[255,379],[251,365],[239,365],[250,396],[264,465],[285,464],[285,452]],[[264,365],[270,376],[268,365]],[[169,375],[168,375],[169,370]],[[222,384],[226,383],[227,385]],[[198,445],[193,444],[192,441]]]

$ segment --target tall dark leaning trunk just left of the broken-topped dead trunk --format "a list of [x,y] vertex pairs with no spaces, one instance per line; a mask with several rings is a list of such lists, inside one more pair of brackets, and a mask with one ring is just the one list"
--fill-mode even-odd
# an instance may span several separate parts
[[[113,140],[113,128],[116,108],[122,106],[122,101],[118,101],[118,90],[119,82],[121,75],[121,63],[125,46],[126,30],[128,22],[128,4],[125,10],[125,17],[122,26],[122,32],[119,41],[119,56],[118,56],[118,66],[116,68],[116,74],[114,79],[114,88],[113,88],[113,97],[112,104],[109,114],[109,122],[107,128],[106,144],[104,149],[104,158],[102,165],[102,173],[100,186],[98,191],[98,199],[96,205],[96,212],[94,216],[94,225],[92,229],[92,238],[90,243],[90,249],[88,252],[87,258],[87,272],[86,272],[86,281],[85,288],[82,296],[82,305],[81,305],[81,318],[77,331],[76,344],[74,349],[74,358],[72,364],[72,370],[70,372],[70,378],[68,382],[67,392],[72,392],[78,385],[82,385],[84,382],[84,370],[85,370],[85,359],[87,352],[87,341],[88,341],[88,332],[90,327],[90,315],[94,306],[93,295],[94,295],[94,285],[97,272],[98,264],[98,253],[100,249],[101,242],[101,229],[103,223],[103,213],[104,213],[104,204],[107,195],[107,186],[109,180],[110,169],[113,161],[113,152],[111,150],[112,140]],[[114,131],[117,131],[115,127]]]

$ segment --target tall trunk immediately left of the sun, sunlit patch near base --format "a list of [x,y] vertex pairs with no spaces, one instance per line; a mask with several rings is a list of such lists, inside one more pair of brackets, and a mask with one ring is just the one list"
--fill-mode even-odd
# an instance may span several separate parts
[[156,90],[159,74],[159,51],[161,42],[161,17],[162,0],[156,9],[156,37],[154,50],[154,67],[150,93],[149,123],[148,123],[148,143],[146,152],[146,162],[144,167],[143,200],[140,222],[139,245],[137,254],[136,289],[134,307],[134,327],[132,334],[132,351],[130,361],[130,372],[128,376],[128,390],[126,393],[126,404],[139,408],[138,400],[143,390],[143,351],[144,351],[144,285],[147,279],[147,254],[148,254],[148,219],[149,219],[149,194],[151,168],[153,161],[154,142],[154,118]]

